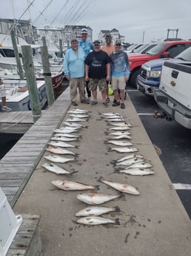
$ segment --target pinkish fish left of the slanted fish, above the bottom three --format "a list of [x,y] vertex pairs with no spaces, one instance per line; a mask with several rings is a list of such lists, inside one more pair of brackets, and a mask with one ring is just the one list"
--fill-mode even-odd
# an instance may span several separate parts
[[99,190],[99,186],[90,186],[83,183],[75,183],[69,180],[53,180],[52,184],[57,188],[63,189],[65,191],[68,190],[87,190],[87,189],[95,189]]

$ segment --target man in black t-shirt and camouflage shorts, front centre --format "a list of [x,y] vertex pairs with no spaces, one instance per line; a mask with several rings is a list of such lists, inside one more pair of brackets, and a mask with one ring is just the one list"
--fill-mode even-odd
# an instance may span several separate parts
[[108,107],[106,102],[107,84],[110,81],[110,57],[101,50],[101,43],[93,42],[94,50],[85,59],[85,80],[90,81],[89,87],[93,93],[92,105],[98,105],[97,87],[101,91],[104,107]]

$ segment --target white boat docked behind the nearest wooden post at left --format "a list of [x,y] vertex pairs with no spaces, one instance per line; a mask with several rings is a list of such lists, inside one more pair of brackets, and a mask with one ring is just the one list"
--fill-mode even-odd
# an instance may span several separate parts
[[[47,103],[47,93],[44,81],[36,82],[41,109]],[[12,111],[31,111],[29,91],[26,80],[4,80],[6,92],[6,105]],[[1,98],[0,98],[1,105]],[[1,108],[0,108],[1,111]]]

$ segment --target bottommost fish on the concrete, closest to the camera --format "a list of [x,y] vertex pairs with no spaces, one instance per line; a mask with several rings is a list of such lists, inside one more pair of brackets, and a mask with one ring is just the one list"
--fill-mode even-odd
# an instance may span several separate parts
[[110,219],[106,219],[104,217],[98,217],[98,216],[81,217],[80,219],[76,220],[76,222],[84,225],[101,225],[101,224],[107,224],[107,223],[120,225],[118,218],[116,218],[115,220],[110,220]]

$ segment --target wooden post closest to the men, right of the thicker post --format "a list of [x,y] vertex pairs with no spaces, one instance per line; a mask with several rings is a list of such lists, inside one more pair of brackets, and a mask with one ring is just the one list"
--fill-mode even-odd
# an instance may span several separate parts
[[55,99],[54,99],[53,82],[52,82],[52,77],[50,72],[50,63],[48,59],[47,46],[41,47],[41,63],[43,67],[44,80],[45,80],[45,85],[47,90],[47,102],[48,102],[48,106],[50,106],[53,104]]

